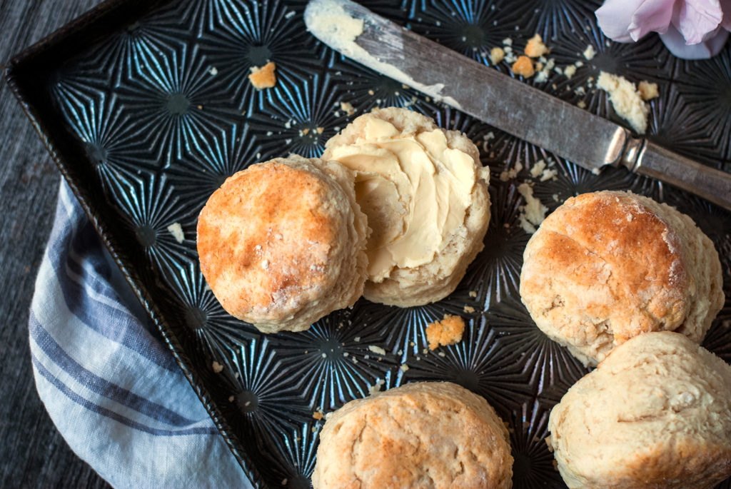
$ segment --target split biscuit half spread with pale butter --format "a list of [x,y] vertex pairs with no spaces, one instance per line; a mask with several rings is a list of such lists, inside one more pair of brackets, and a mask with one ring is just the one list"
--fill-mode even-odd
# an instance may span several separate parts
[[325,148],[324,159],[357,173],[356,198],[373,230],[366,298],[419,306],[449,295],[490,221],[490,173],[474,143],[389,107],[360,115]]

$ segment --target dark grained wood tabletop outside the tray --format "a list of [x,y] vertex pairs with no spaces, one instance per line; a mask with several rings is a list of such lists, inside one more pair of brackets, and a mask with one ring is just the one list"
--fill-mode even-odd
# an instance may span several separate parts
[[[0,0],[0,62],[100,0]],[[108,488],[69,449],[38,398],[28,314],[60,175],[0,81],[0,487]]]

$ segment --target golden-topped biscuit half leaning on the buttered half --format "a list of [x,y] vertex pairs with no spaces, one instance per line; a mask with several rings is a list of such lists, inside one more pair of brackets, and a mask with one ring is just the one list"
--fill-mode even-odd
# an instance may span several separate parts
[[200,268],[232,316],[306,330],[352,306],[366,279],[366,216],[341,164],[289,156],[224,182],[198,218]]

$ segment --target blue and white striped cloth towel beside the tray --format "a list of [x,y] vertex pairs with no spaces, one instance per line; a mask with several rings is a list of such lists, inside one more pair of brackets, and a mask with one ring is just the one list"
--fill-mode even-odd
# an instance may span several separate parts
[[29,321],[38,393],[117,488],[251,488],[66,183]]

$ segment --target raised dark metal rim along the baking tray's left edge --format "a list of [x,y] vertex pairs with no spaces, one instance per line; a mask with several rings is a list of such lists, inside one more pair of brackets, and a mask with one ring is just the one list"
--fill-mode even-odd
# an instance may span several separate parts
[[[56,150],[54,137],[48,130],[49,124],[53,123],[49,123],[49,121],[45,120],[42,115],[39,114],[34,105],[32,92],[29,91],[28,87],[23,85],[20,77],[23,73],[23,69],[27,68],[27,65],[31,63],[35,57],[48,52],[48,50],[56,47],[61,42],[72,39],[72,37],[83,36],[85,30],[89,29],[90,26],[101,25],[105,22],[105,20],[112,18],[120,7],[133,4],[135,1],[136,0],[103,0],[100,4],[96,5],[96,7],[92,7],[91,10],[87,10],[74,20],[71,20],[69,23],[66,23],[56,29],[56,31],[48,34],[48,36],[43,37],[28,48],[21,50],[20,53],[13,55],[5,66],[3,73],[4,79],[7,82],[10,91],[12,91],[12,94],[15,96],[15,99],[17,99],[18,104],[23,109],[23,113],[25,113],[29,118],[31,126],[35,129],[41,142],[48,150],[48,153],[50,153],[50,156],[56,164],[56,167],[58,167],[64,181],[67,182],[69,188],[72,190],[86,213],[86,216],[88,216],[88,219],[94,226],[94,230],[96,230],[96,233],[99,235],[99,238],[101,238],[102,243],[104,243],[107,250],[110,252],[110,256],[120,269],[125,280],[129,286],[132,287],[132,292],[134,292],[135,297],[137,297],[137,300],[140,301],[140,305],[143,306],[148,317],[154,323],[157,330],[159,330],[164,343],[173,355],[175,363],[177,363],[178,367],[181,368],[183,375],[188,380],[206,412],[208,412],[208,415],[211,417],[213,424],[218,429],[219,434],[222,436],[224,441],[226,441],[232,455],[234,455],[234,458],[237,460],[244,474],[246,474],[246,478],[249,479],[255,488],[263,488],[265,487],[264,479],[256,465],[249,458],[246,447],[243,447],[243,445],[238,442],[238,439],[233,439],[232,436],[230,436],[232,428],[226,418],[223,416],[218,406],[216,406],[216,403],[213,402],[210,393],[208,393],[208,389],[206,389],[202,382],[200,382],[197,372],[192,371],[186,365],[183,355],[186,356],[187,353],[182,349],[181,342],[170,328],[167,320],[164,319],[162,311],[160,311],[155,305],[150,292],[141,281],[138,273],[135,272],[132,267],[128,266],[131,260],[124,251],[124,247],[118,243],[118,240],[112,233],[107,231],[107,223],[101,219],[91,202],[88,186],[77,182],[75,178],[73,178],[72,172],[70,171],[71,166],[64,158],[64,155]],[[155,7],[170,4],[173,1],[175,0],[156,0],[151,3],[154,6],[148,8],[152,10]],[[148,2],[142,1],[139,3],[147,4]],[[110,31],[110,34],[113,33],[114,31]]]

